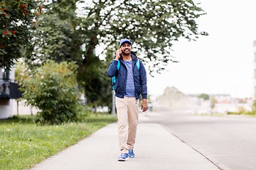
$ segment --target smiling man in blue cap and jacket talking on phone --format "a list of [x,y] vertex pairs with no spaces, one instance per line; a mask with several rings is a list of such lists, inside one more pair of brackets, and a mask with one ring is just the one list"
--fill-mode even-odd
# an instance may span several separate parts
[[[126,161],[129,157],[135,157],[133,149],[137,132],[139,94],[142,94],[142,111],[144,112],[148,109],[147,86],[146,70],[142,62],[132,52],[132,42],[124,38],[120,41],[119,47],[107,70],[107,75],[116,77],[114,91],[118,118],[118,140],[121,150],[118,160]],[[117,69],[118,63],[120,64],[119,70]]]

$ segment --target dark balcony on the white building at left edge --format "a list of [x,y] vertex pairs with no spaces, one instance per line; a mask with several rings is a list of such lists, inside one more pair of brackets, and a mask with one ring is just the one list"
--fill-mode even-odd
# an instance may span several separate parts
[[0,79],[0,98],[21,98],[20,86],[11,79]]

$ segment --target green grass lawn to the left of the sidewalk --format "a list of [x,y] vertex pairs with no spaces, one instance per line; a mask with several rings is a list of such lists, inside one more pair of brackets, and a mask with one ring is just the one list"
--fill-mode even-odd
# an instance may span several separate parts
[[112,123],[112,115],[90,115],[85,123],[36,125],[33,115],[0,120],[0,169],[28,169]]

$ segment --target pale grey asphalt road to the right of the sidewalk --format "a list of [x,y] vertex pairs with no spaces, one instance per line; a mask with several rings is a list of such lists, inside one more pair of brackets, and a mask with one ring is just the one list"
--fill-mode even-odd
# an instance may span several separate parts
[[146,114],[220,169],[256,169],[256,118]]

